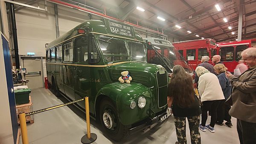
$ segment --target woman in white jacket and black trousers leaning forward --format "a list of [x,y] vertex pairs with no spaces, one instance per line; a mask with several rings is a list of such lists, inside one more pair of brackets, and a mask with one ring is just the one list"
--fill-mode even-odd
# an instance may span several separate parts
[[[214,125],[217,120],[217,108],[221,100],[225,99],[221,85],[216,75],[209,72],[203,66],[198,66],[195,69],[196,74],[199,77],[198,92],[201,96],[202,106],[202,121],[199,129],[203,132],[208,129],[210,132],[215,132]],[[207,121],[207,112],[211,110],[211,122],[209,125],[205,125]]]

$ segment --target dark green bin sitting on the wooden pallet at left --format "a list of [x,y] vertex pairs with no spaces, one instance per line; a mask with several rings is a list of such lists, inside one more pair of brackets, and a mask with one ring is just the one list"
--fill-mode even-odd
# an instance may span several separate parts
[[16,105],[29,103],[29,93],[30,92],[31,92],[31,89],[16,89],[16,90],[14,90]]

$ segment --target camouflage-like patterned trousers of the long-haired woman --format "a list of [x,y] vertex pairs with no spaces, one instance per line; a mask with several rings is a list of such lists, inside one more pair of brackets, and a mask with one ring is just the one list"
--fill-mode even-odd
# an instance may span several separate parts
[[186,144],[186,118],[189,121],[189,130],[191,144],[201,144],[201,136],[199,133],[200,115],[192,117],[174,117],[176,127],[176,135],[179,144]]

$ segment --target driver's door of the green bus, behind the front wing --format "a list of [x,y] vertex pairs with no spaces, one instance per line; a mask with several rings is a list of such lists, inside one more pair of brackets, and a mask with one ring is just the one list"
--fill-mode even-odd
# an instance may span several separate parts
[[[91,75],[91,68],[88,58],[88,40],[84,36],[76,37],[74,39],[75,49],[75,96],[76,100],[90,96],[90,82],[93,79]],[[78,103],[79,106],[84,108],[84,101]]]

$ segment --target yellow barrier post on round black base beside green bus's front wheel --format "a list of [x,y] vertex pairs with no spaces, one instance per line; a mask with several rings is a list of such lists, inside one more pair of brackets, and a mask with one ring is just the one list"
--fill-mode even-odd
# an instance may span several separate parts
[[90,112],[89,112],[89,98],[85,97],[85,113],[86,113],[86,125],[87,125],[87,134],[81,138],[81,143],[90,144],[97,139],[95,133],[90,133]]

